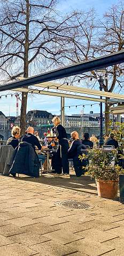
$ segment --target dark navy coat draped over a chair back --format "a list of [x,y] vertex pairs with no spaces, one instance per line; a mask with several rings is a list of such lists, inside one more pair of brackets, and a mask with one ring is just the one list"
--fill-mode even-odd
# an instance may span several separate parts
[[15,149],[14,160],[9,173],[13,177],[16,176],[16,173],[39,177],[38,157],[30,143],[19,143],[19,146]]

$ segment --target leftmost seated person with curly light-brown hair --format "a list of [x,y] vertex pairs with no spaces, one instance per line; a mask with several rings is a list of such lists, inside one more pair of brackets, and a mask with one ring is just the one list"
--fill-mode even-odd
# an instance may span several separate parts
[[12,145],[15,149],[19,145],[18,138],[20,137],[20,131],[21,129],[18,126],[13,126],[11,131],[12,137],[7,140],[6,145]]

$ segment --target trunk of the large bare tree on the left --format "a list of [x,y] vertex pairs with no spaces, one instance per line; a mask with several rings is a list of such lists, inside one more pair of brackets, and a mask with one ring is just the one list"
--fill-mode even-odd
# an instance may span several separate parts
[[[25,36],[25,53],[24,53],[24,77],[28,77],[28,52],[29,52],[29,0],[26,0],[26,36]],[[27,93],[22,92],[20,128],[21,136],[26,130],[26,109],[27,109]]]

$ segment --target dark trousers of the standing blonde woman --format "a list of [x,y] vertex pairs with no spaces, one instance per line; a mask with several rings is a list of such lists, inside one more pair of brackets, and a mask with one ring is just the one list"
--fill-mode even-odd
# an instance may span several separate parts
[[[60,152],[61,146],[61,152]],[[63,173],[69,174],[69,164],[68,164],[68,141],[62,139],[56,154],[52,157],[52,167],[55,169],[56,173],[61,173],[63,168]]]

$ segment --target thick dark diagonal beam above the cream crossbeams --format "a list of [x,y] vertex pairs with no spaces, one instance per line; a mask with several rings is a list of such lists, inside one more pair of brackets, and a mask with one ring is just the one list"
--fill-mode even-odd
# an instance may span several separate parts
[[13,82],[6,85],[1,85],[0,91],[6,91],[14,88],[34,85],[37,83],[53,81],[56,79],[88,72],[91,70],[106,68],[114,64],[122,63],[123,60],[124,60],[124,50],[118,53],[113,53],[113,54],[105,55],[102,57],[98,57],[93,60],[83,61],[73,65],[68,65],[67,67],[64,67],[64,68],[45,72],[41,75],[30,77],[19,82]]

